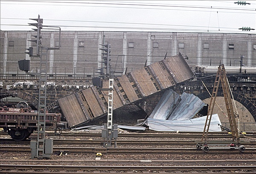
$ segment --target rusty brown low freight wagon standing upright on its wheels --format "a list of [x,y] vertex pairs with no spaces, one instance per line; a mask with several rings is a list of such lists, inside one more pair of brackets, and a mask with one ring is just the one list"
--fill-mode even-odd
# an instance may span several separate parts
[[[38,113],[31,110],[26,102],[17,103],[16,108],[0,108],[0,127],[15,141],[27,139],[33,131],[37,130]],[[44,118],[41,116],[43,122]],[[56,129],[65,126],[61,122],[61,114],[46,114],[47,129]]]

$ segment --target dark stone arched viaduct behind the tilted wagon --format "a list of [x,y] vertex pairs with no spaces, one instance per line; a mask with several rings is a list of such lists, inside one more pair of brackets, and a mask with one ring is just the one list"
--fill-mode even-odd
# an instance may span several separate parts
[[[194,94],[201,100],[210,98],[212,91],[212,85],[214,83],[214,76],[207,78],[197,78],[194,80],[187,80],[179,83],[171,88],[178,94],[183,92]],[[228,75],[230,88],[234,97],[234,100],[241,103],[252,115],[256,121],[256,83],[255,75],[250,74],[232,74]],[[253,80],[254,79],[254,80]],[[0,86],[0,98],[5,97],[19,97],[27,101],[30,106],[34,109],[38,109],[38,84],[26,85],[25,83],[20,85],[14,85],[16,82],[21,80],[5,80]],[[58,106],[58,100],[66,97],[68,95],[77,93],[84,90],[90,86],[90,79],[80,80],[80,85],[77,84],[76,80],[55,80],[59,81],[58,85],[47,86],[47,107],[49,112],[56,112],[55,106]],[[204,84],[203,84],[204,82]],[[6,85],[9,84],[9,85]],[[70,84],[70,85],[68,85]],[[84,85],[81,85],[84,84]],[[205,86],[204,86],[205,85]],[[207,91],[209,90],[209,92]],[[143,110],[150,114],[154,107],[162,97],[163,92],[151,95],[140,102],[135,102],[134,104],[143,108]],[[218,97],[223,97],[222,90],[218,91]]]

